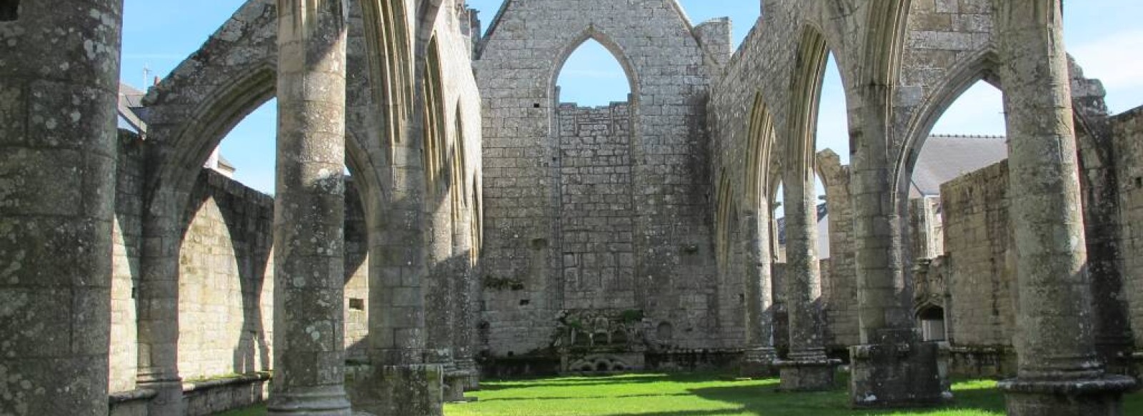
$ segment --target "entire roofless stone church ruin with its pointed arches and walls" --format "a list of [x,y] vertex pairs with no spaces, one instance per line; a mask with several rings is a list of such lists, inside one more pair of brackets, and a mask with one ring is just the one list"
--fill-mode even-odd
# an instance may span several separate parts
[[[481,376],[815,391],[842,362],[855,407],[972,375],[1012,415],[1118,415],[1143,112],[1109,113],[1061,2],[765,0],[735,50],[674,0],[507,0],[487,31],[459,0],[249,0],[135,94],[122,0],[0,1],[0,415],[441,415]],[[560,101],[584,42],[626,101]],[[830,56],[848,159],[815,147]],[[1006,137],[932,135],[977,81]],[[271,98],[273,197],[203,168]]]

